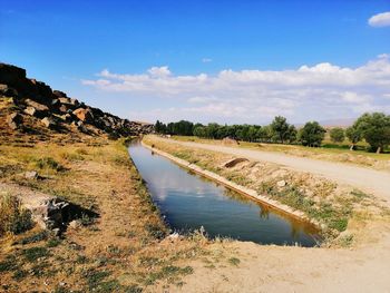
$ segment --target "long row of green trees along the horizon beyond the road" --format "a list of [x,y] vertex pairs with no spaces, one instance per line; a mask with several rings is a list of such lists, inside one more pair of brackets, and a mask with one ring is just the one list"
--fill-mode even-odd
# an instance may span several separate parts
[[[244,141],[302,144],[304,146],[321,146],[326,130],[316,121],[309,121],[296,129],[286,118],[276,116],[270,125],[207,125],[181,120],[167,125],[157,120],[155,130],[158,134],[197,136],[203,138],[222,139],[231,137]],[[351,127],[337,127],[330,130],[334,143],[342,143],[345,136],[354,145],[364,139],[378,153],[390,145],[390,116],[382,113],[364,114]]]

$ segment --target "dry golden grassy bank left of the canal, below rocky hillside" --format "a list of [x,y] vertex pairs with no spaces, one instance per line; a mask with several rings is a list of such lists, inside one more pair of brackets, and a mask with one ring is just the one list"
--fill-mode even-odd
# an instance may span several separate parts
[[[211,253],[203,235],[166,237],[121,141],[0,146],[0,169],[4,186],[22,185],[98,214],[61,237],[35,226],[0,238],[0,291],[155,292],[182,286],[193,273],[188,262]],[[26,179],[26,170],[40,177]]]

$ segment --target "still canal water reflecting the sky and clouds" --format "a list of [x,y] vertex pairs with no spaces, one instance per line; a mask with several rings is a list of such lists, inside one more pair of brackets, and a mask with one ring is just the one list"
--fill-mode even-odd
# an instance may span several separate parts
[[[179,233],[199,229],[260,244],[314,246],[312,225],[253,202],[153,154],[134,141],[129,153],[154,202],[170,228]],[[316,241],[315,241],[316,240]]]

